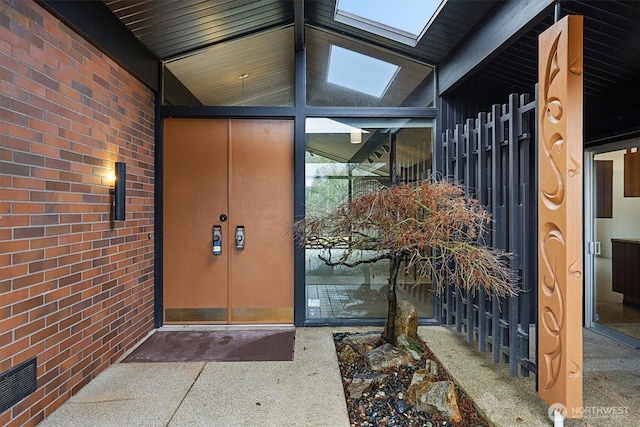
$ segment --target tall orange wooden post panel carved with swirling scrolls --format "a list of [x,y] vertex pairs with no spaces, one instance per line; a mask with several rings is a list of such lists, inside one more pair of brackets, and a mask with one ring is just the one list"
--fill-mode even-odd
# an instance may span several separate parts
[[538,40],[538,394],[568,418],[582,408],[582,25]]

